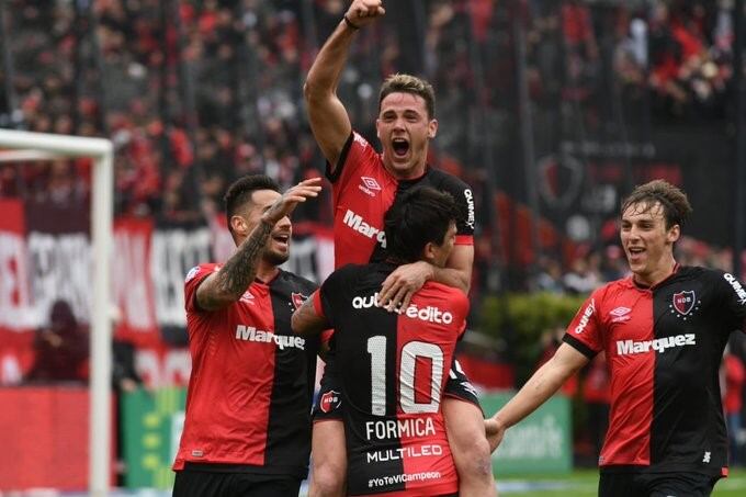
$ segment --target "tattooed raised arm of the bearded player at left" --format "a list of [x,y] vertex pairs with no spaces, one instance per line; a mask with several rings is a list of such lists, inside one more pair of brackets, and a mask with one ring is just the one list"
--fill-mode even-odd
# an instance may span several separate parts
[[203,310],[217,310],[238,302],[257,275],[257,267],[274,225],[287,216],[298,202],[318,195],[320,178],[302,181],[287,190],[261,216],[236,253],[196,289],[196,304]]

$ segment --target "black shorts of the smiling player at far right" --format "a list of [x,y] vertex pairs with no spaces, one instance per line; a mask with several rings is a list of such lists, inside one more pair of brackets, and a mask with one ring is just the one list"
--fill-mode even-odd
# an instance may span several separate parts
[[598,497],[709,497],[719,479],[691,472],[601,472]]

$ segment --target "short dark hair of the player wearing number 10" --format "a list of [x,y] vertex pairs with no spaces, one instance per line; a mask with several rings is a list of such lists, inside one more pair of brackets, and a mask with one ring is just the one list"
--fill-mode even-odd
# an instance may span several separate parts
[[400,262],[416,262],[429,242],[442,245],[459,218],[453,196],[431,187],[417,187],[396,200],[384,217],[386,251]]

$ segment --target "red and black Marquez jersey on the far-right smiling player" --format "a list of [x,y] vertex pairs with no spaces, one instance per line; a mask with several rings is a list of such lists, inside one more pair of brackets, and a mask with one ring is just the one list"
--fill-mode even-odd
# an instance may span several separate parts
[[602,471],[727,471],[719,368],[743,329],[746,291],[733,275],[677,267],[654,287],[632,278],[596,290],[564,341],[589,358],[604,351],[611,414]]

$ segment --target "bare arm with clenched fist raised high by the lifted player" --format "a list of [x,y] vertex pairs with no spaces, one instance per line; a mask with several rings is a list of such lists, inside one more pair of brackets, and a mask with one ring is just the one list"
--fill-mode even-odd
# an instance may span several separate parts
[[384,13],[381,0],[354,0],[308,70],[303,87],[308,121],[331,171],[352,132],[347,110],[337,97],[339,77],[355,32]]

